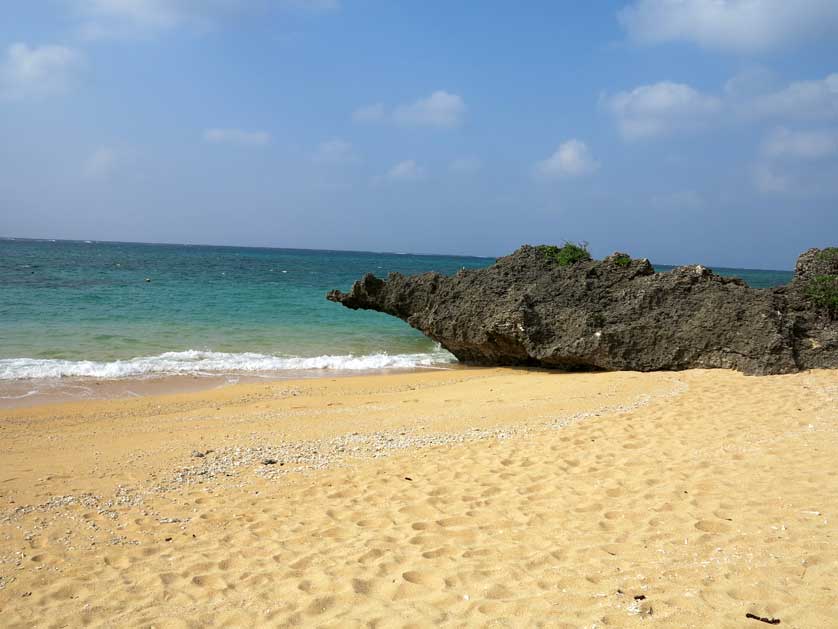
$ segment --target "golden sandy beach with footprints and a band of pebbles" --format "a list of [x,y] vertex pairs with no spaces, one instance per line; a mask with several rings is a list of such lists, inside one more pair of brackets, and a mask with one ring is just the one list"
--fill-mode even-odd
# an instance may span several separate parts
[[0,412],[4,627],[838,626],[838,372]]

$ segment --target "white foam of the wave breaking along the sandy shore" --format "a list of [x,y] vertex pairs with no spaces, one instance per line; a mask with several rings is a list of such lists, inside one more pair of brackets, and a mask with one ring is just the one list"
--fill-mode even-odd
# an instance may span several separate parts
[[437,349],[427,354],[369,354],[366,356],[271,356],[266,354],[188,350],[141,356],[130,360],[96,362],[36,358],[0,359],[0,380],[34,378],[101,378],[113,380],[152,375],[210,375],[218,373],[260,373],[288,370],[410,369],[450,363],[455,359]]

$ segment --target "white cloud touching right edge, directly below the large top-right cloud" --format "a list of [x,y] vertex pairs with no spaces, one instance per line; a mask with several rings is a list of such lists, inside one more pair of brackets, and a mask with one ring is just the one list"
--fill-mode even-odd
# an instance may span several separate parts
[[796,81],[758,97],[753,108],[760,115],[838,118],[838,74],[820,80]]

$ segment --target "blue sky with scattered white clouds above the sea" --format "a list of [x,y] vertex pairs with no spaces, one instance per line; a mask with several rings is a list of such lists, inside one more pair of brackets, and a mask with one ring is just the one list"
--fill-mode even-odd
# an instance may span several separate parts
[[835,0],[5,0],[0,236],[793,268]]

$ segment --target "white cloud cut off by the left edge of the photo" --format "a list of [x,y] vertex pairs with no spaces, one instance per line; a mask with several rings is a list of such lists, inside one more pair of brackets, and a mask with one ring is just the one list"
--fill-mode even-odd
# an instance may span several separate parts
[[12,44],[0,61],[0,98],[43,98],[65,91],[84,65],[84,56],[65,46]]

